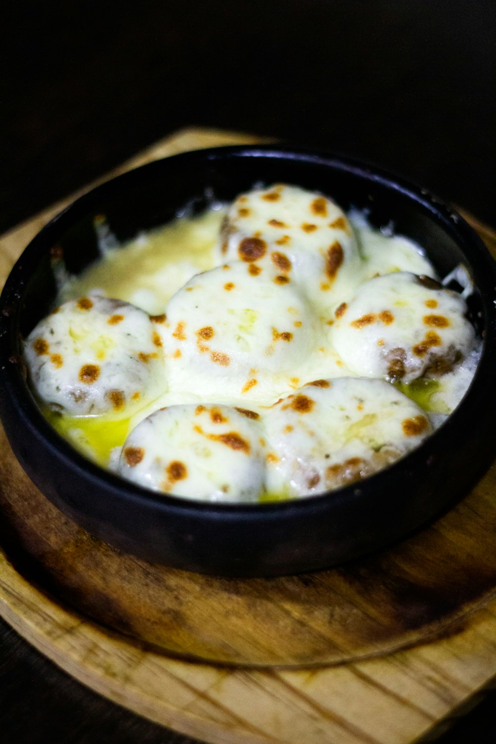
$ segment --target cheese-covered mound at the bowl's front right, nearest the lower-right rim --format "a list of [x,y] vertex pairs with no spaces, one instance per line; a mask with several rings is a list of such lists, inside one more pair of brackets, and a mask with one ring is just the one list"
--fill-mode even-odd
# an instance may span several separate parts
[[366,478],[431,433],[424,411],[389,382],[321,379],[265,416],[267,490],[310,496]]

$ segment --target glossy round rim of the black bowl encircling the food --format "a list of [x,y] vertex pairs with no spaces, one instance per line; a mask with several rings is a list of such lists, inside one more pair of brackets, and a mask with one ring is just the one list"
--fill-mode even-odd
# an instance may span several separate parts
[[[84,214],[88,214],[87,207],[91,205],[91,202],[100,197],[105,197],[106,193],[115,192],[116,188],[118,193],[118,189],[121,187],[125,188],[132,185],[135,180],[146,178],[146,174],[152,174],[154,170],[167,168],[167,163],[176,164],[184,161],[184,164],[187,164],[188,161],[194,162],[198,159],[219,162],[230,158],[283,158],[285,161],[310,162],[322,167],[330,167],[331,170],[339,173],[345,172],[366,179],[373,185],[381,185],[386,187],[387,190],[401,193],[402,196],[415,202],[417,208],[430,214],[437,222],[441,222],[442,228],[462,247],[464,253],[466,253],[468,247],[473,251],[474,257],[469,257],[469,263],[472,275],[477,273],[480,279],[480,282],[474,280],[474,283],[480,290],[485,333],[480,361],[471,380],[471,385],[460,404],[449,414],[448,419],[442,423],[439,429],[430,434],[416,449],[374,475],[367,476],[363,481],[356,481],[350,485],[312,496],[298,496],[282,501],[255,503],[203,501],[200,498],[185,498],[155,492],[134,484],[132,481],[126,481],[120,475],[95,464],[71,446],[45,419],[28,387],[28,383],[22,378],[19,365],[8,363],[9,357],[12,361],[12,355],[15,356],[19,353],[16,350],[19,349],[21,344],[17,314],[12,312],[10,308],[15,307],[16,301],[18,303],[21,301],[26,278],[32,274],[33,270],[36,270],[44,251],[49,251],[50,247],[57,242],[57,234],[62,234],[77,219],[80,219]],[[482,261],[485,264],[480,272],[476,266],[472,265],[472,260],[476,260],[475,257],[477,257],[477,261]],[[481,283],[483,286],[481,286]],[[489,287],[492,287],[490,291]],[[483,288],[486,291],[483,291]],[[318,511],[323,504],[330,501],[338,504],[341,501],[361,498],[364,490],[374,493],[376,498],[379,498],[381,493],[387,493],[389,490],[387,481],[401,479],[405,477],[405,472],[415,470],[417,465],[425,462],[429,455],[428,445],[430,442],[439,442],[442,437],[448,437],[449,434],[457,433],[458,436],[460,435],[460,431],[457,432],[457,429],[462,423],[461,420],[468,407],[482,402],[478,400],[480,398],[481,382],[484,381],[484,378],[486,378],[486,382],[489,382],[489,368],[492,368],[493,371],[496,369],[496,263],[483,241],[480,240],[480,237],[466,220],[428,189],[413,185],[402,177],[390,174],[387,170],[356,158],[348,158],[328,153],[325,150],[313,150],[307,147],[267,144],[192,150],[152,161],[109,179],[71,202],[33,237],[33,240],[30,241],[16,261],[4,284],[0,298],[0,310],[0,365],[1,376],[4,380],[2,388],[4,388],[4,393],[13,396],[24,423],[30,427],[33,433],[45,440],[45,444],[50,447],[52,453],[57,455],[61,464],[73,472],[75,470],[75,475],[83,477],[86,481],[89,478],[91,482],[98,486],[104,487],[106,490],[112,490],[113,493],[118,494],[122,501],[138,501],[143,506],[147,505],[153,509],[166,511],[173,510],[182,516],[193,516],[208,512],[210,515],[219,515],[219,517],[222,516],[222,519],[233,521],[243,518],[248,519],[254,515],[264,516],[268,520],[272,520],[279,518],[281,514],[289,515],[302,509]],[[4,350],[10,351],[7,358],[4,356]],[[6,361],[7,364],[5,364]],[[490,362],[492,362],[492,365]]]

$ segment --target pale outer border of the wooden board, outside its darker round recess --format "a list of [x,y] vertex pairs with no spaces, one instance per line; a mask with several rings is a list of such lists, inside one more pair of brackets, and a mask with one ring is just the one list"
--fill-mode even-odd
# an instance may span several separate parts
[[[261,141],[195,127],[164,138],[1,237],[0,281],[34,234],[94,185],[167,155]],[[462,214],[495,250],[495,231]],[[407,744],[437,729],[496,674],[496,601],[449,638],[311,671],[226,670],[144,650],[57,604],[31,586],[1,551],[0,615],[91,689],[216,744]]]

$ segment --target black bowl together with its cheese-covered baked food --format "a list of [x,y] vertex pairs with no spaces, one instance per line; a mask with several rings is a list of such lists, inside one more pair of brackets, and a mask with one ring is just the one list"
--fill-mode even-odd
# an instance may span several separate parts
[[33,482],[118,548],[323,568],[445,510],[495,452],[495,265],[425,191],[228,147],[126,173],[1,297],[1,416]]

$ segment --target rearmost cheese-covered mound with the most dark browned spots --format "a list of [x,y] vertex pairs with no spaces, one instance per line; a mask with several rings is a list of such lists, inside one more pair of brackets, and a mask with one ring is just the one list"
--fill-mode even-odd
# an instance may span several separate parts
[[228,261],[272,264],[304,283],[324,306],[357,286],[361,266],[341,208],[321,194],[283,184],[238,196],[222,225],[220,252]]

